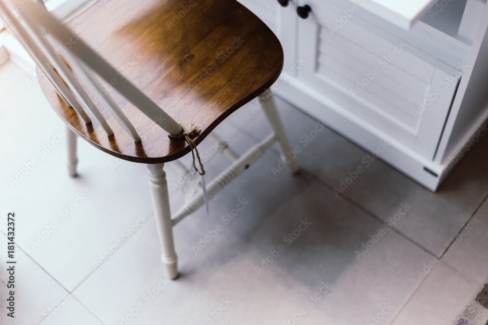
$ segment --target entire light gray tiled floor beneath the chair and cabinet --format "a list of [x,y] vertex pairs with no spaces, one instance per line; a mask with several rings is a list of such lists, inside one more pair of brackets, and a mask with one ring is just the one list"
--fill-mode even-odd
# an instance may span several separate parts
[[[488,278],[488,139],[435,194],[378,160],[337,197],[332,189],[366,152],[327,128],[305,146],[317,122],[278,100],[303,172],[274,175],[273,147],[209,215],[200,209],[175,228],[182,276],[168,281],[145,167],[79,141],[80,177],[69,178],[63,125],[26,80],[13,63],[0,67],[0,214],[16,212],[18,245],[11,319],[0,222],[0,324],[450,325]],[[268,131],[252,106],[216,130],[240,153]],[[205,168],[211,176],[226,164],[213,155]],[[182,193],[176,176],[168,180],[176,210]],[[246,207],[226,222],[239,200]],[[284,237],[301,223],[300,236]]]

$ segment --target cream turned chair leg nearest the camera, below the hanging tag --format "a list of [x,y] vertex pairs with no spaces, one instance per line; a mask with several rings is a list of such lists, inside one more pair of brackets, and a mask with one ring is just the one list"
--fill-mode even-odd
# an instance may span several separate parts
[[176,256],[175,243],[173,240],[173,225],[171,212],[169,210],[168,183],[166,173],[163,171],[164,164],[147,165],[149,170],[149,185],[156,215],[156,224],[159,232],[159,239],[163,249],[161,260],[166,267],[168,276],[171,279],[178,278],[178,257]]

